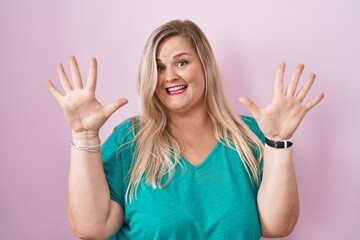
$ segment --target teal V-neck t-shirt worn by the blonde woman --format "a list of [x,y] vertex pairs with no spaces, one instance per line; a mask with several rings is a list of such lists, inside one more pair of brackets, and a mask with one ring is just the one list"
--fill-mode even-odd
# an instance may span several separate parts
[[[263,141],[255,120],[242,117]],[[132,121],[120,124],[101,148],[111,199],[124,209],[124,225],[110,239],[260,239],[256,195],[239,155],[218,142],[198,166],[181,158],[163,189],[141,182],[125,202],[134,145]]]

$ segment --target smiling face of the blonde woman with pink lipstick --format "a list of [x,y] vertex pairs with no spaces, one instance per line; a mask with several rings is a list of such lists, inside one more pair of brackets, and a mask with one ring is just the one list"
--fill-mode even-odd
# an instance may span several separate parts
[[156,61],[156,95],[169,113],[204,110],[204,71],[190,43],[182,36],[165,39],[158,47]]

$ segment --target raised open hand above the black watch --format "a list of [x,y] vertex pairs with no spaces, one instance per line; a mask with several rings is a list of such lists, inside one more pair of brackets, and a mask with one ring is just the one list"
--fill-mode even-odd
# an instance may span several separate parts
[[323,99],[324,93],[320,93],[308,103],[302,103],[316,77],[315,74],[310,74],[303,87],[296,94],[296,88],[303,70],[303,64],[299,64],[296,67],[289,85],[284,92],[283,79],[285,63],[279,65],[275,79],[274,96],[266,108],[259,108],[247,97],[239,98],[240,102],[253,115],[261,131],[267,138],[272,140],[291,138],[306,113]]

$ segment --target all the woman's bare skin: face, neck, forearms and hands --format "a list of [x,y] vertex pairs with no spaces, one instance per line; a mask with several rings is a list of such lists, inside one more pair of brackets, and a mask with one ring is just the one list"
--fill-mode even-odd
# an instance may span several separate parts
[[[177,56],[179,53],[185,53]],[[213,126],[203,106],[205,80],[198,56],[182,37],[166,39],[157,53],[158,83],[156,94],[167,107],[170,131],[178,140],[182,155],[198,165],[216,143]],[[186,58],[186,59],[185,59]],[[187,60],[187,63],[180,60]],[[95,98],[97,63],[91,59],[87,83],[83,86],[75,57],[70,58],[72,84],[62,64],[57,66],[64,94],[47,80],[46,85],[64,112],[75,144],[95,145],[99,130],[126,99],[103,106]],[[247,97],[240,102],[252,113],[266,137],[290,138],[306,113],[324,97],[320,93],[303,104],[315,80],[310,74],[301,90],[297,85],[304,66],[300,64],[283,91],[285,64],[281,63],[275,79],[274,97],[264,109]],[[182,94],[168,95],[166,88],[186,85]],[[203,143],[203,140],[207,141]],[[202,144],[199,144],[202,143]],[[286,236],[299,215],[299,198],[293,165],[292,147],[275,149],[265,146],[264,175],[258,193],[258,208],[265,237]],[[123,209],[110,199],[100,153],[71,149],[68,187],[68,218],[74,234],[81,239],[104,239],[123,224]]]

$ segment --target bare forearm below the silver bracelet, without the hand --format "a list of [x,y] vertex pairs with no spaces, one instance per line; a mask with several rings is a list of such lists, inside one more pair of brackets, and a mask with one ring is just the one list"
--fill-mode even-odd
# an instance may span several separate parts
[[[91,141],[88,145],[99,142]],[[67,211],[71,229],[80,239],[104,239],[122,226],[123,209],[110,200],[99,152],[71,149]]]

